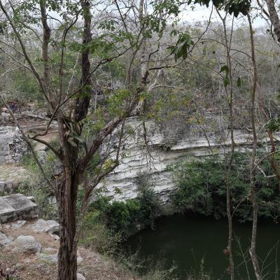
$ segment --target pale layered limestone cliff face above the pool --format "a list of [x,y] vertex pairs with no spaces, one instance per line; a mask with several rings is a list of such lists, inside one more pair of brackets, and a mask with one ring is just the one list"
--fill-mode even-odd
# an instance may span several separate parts
[[[186,124],[183,127],[182,125],[176,127],[176,124],[162,127],[152,120],[146,121],[148,145],[144,141],[144,129],[139,119],[128,119],[125,130],[133,133],[122,144],[120,165],[97,186],[105,189],[104,193],[116,200],[136,197],[139,185],[146,180],[165,203],[174,190],[169,165],[180,160],[211,155],[209,144],[215,153],[224,153],[230,144],[226,131],[223,132],[226,139],[223,142],[224,149],[214,133],[206,138],[199,127]],[[236,151],[249,151],[251,139],[251,134],[246,130],[235,130]],[[259,141],[260,144],[265,142],[265,137],[263,139],[260,137]],[[118,132],[110,138],[110,145],[111,151],[118,146]],[[114,158],[116,154],[112,155]]]

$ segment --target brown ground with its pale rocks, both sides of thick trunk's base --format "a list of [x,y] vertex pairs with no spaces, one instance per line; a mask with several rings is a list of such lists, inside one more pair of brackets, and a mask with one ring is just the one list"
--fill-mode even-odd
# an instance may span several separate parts
[[[57,274],[55,221],[16,221],[0,225],[0,269],[15,270],[17,280],[52,280]],[[109,258],[78,248],[79,280],[132,280],[136,279],[127,269]],[[1,277],[0,277],[1,279]]]

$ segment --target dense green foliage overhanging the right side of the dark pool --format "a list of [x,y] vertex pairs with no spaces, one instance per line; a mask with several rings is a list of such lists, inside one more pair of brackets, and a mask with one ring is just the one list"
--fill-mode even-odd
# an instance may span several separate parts
[[[170,169],[176,181],[173,202],[177,209],[193,211],[216,218],[226,216],[226,184],[223,168],[225,160],[210,157],[201,161],[179,162]],[[250,155],[236,153],[232,163],[230,188],[232,211],[239,221],[251,221],[249,199]],[[265,174],[272,175],[268,160],[260,166]],[[277,220],[280,215],[279,197],[276,196],[278,183],[273,177],[257,172],[255,188],[259,202],[259,216]]]

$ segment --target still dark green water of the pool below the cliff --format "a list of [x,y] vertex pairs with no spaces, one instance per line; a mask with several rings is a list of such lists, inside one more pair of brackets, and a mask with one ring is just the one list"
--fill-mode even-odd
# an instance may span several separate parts
[[[235,240],[236,279],[255,279],[247,251],[251,224],[235,223],[234,230],[240,240],[243,255],[248,261],[247,272],[241,249]],[[280,246],[277,246],[279,239],[280,225],[268,221],[261,221],[258,224],[257,251],[265,280],[280,280]],[[215,280],[230,279],[225,270],[228,267],[228,260],[223,253],[226,246],[227,221],[199,216],[160,218],[155,230],[142,230],[127,241],[127,248],[130,248],[131,252],[139,250],[141,258],[153,256],[155,259],[165,259],[166,269],[175,264],[176,274],[180,279],[186,279],[186,272],[197,270],[202,258],[205,269],[211,271]],[[275,274],[277,270],[278,275]]]

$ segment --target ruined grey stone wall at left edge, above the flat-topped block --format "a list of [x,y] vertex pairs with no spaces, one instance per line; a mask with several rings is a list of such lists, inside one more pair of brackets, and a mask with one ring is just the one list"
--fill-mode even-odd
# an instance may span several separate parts
[[0,164],[20,162],[27,146],[18,127],[0,127]]

